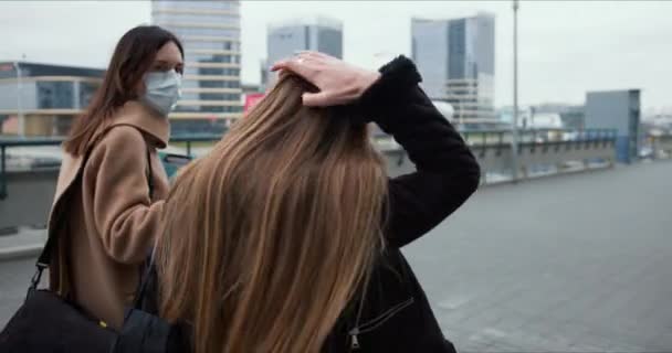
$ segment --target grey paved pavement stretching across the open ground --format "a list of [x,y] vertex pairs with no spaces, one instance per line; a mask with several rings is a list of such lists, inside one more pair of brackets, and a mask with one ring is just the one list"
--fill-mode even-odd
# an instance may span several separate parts
[[[672,352],[672,162],[481,190],[406,249],[462,352]],[[0,263],[0,325],[32,259]]]

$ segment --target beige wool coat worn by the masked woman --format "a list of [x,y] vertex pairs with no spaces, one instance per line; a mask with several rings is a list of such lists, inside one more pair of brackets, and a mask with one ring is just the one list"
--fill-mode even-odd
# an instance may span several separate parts
[[160,228],[168,178],[156,149],[168,143],[170,127],[138,101],[126,103],[109,121],[95,135],[86,161],[64,153],[48,223],[49,236],[59,238],[50,288],[120,328]]

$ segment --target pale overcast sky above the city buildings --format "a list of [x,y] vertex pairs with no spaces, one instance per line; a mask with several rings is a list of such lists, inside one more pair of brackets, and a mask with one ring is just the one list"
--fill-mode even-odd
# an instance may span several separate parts
[[[410,18],[496,17],[495,104],[512,100],[511,1],[242,1],[242,79],[258,83],[269,22],[326,14],[344,22],[345,60],[376,67],[376,53],[410,55]],[[523,104],[576,103],[586,90],[642,88],[644,107],[672,107],[672,1],[522,1]],[[0,1],[0,60],[103,67],[118,38],[150,21],[127,1]]]

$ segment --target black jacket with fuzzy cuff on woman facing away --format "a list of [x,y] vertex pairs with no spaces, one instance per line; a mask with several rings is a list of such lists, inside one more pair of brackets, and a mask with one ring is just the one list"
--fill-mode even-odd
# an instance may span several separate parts
[[390,179],[388,247],[364,301],[344,311],[325,351],[455,352],[400,248],[469,199],[479,185],[480,168],[460,135],[418,87],[420,75],[410,60],[398,57],[380,72],[381,78],[363,95],[358,108],[395,137],[416,171]]

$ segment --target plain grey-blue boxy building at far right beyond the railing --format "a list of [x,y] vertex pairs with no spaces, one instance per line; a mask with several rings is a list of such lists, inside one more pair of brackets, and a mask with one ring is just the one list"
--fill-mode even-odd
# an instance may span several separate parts
[[616,129],[616,158],[623,163],[639,152],[640,90],[602,90],[586,94],[586,128]]

